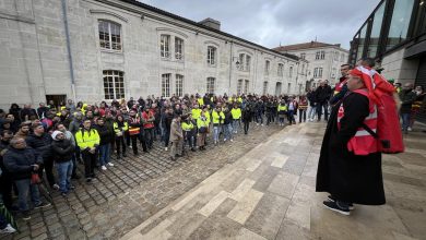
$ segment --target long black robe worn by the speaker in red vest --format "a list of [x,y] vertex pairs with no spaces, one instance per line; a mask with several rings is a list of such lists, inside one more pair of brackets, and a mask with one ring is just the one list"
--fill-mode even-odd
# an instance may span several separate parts
[[347,142],[369,115],[368,98],[352,93],[343,99],[345,115],[338,129],[336,104],[322,141],[317,172],[317,192],[329,192],[336,200],[365,205],[386,203],[381,173],[381,153],[357,156]]

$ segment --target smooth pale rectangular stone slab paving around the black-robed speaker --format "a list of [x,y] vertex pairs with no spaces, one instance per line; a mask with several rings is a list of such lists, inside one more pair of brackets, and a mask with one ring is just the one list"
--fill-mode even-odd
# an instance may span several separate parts
[[122,240],[426,239],[426,133],[406,135],[406,153],[383,155],[387,204],[343,216],[315,192],[323,130],[303,123],[271,135]]

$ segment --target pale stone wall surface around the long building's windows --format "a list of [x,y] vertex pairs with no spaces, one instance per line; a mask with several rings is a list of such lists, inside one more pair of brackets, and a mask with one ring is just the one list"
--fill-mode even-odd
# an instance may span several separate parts
[[[275,94],[276,83],[282,83],[281,93],[298,94],[298,61],[294,59],[118,0],[110,0],[108,4],[67,0],[67,4],[76,100],[104,99],[103,70],[125,72],[126,98],[159,96],[165,73],[171,74],[171,94],[176,91],[176,74],[184,75],[184,94],[204,94],[208,77],[215,77],[217,95],[235,94],[239,79],[249,81],[250,93],[262,94],[263,82],[268,81],[269,94]],[[98,20],[121,25],[122,51],[100,49]],[[45,95],[63,94],[73,98],[60,0],[2,0],[0,31],[1,108],[9,109],[12,103],[36,105],[46,101]],[[171,36],[173,55],[174,37],[185,40],[184,61],[161,58],[161,34]],[[206,63],[209,45],[217,47],[215,67]],[[250,71],[236,68],[239,52],[251,56]],[[267,58],[271,61],[268,76],[264,74]],[[284,63],[284,76],[276,74],[277,62]],[[301,82],[305,84],[306,80]],[[287,89],[288,83],[291,89]]]

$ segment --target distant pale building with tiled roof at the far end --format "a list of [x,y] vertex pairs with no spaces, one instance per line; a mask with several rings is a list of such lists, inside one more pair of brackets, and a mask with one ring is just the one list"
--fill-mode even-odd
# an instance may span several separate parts
[[274,50],[296,55],[309,62],[305,69],[307,79],[315,87],[319,80],[328,80],[331,85],[339,82],[340,67],[347,63],[348,51],[341,48],[340,45],[331,45],[319,41],[281,46]]

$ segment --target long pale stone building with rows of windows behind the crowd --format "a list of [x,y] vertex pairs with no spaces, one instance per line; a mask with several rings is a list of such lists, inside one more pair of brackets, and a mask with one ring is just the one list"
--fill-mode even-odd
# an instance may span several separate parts
[[0,107],[299,94],[308,62],[135,0],[0,1]]

